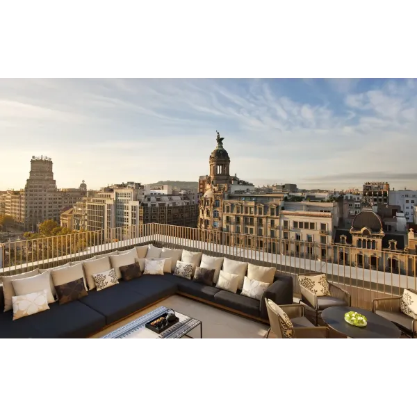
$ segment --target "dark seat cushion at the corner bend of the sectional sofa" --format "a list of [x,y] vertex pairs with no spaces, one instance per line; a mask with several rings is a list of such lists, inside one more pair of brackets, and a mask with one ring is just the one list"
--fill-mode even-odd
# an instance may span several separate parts
[[123,284],[130,291],[134,291],[145,297],[147,304],[153,304],[162,298],[170,297],[177,293],[177,284],[167,281],[161,277],[143,275],[140,278],[126,281]]

